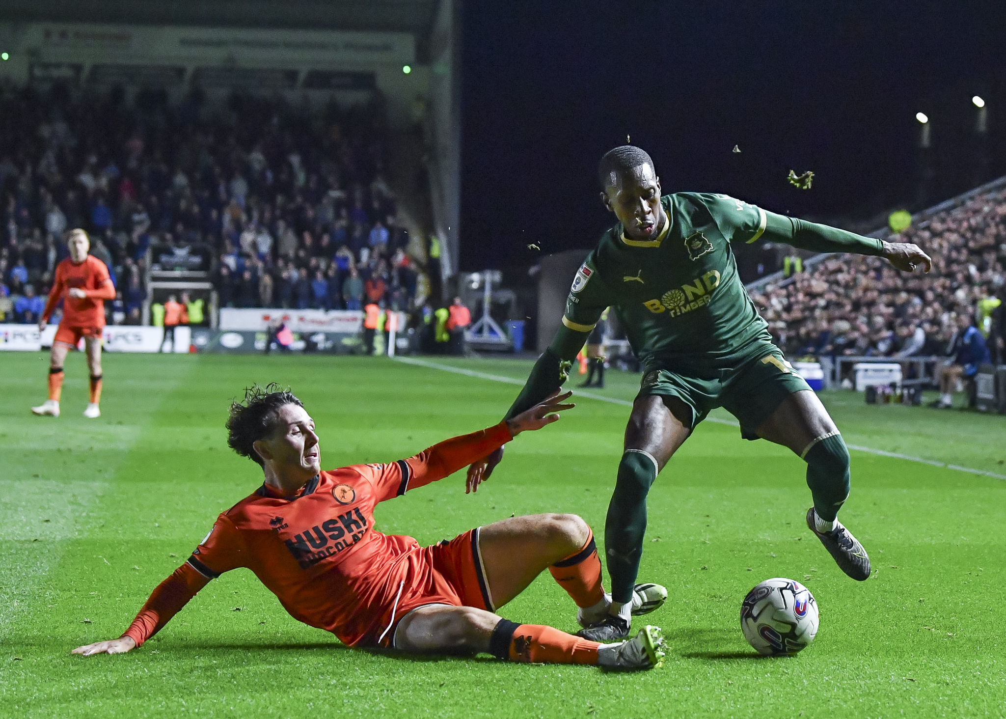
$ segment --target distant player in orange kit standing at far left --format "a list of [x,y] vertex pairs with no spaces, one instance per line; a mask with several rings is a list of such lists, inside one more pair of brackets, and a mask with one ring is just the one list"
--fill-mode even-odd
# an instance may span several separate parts
[[88,254],[91,241],[82,230],[70,230],[66,238],[69,257],[56,265],[52,290],[45,310],[38,320],[38,331],[45,329],[56,302],[63,300],[62,319],[52,341],[49,360],[49,399],[31,411],[36,415],[59,416],[59,393],[62,390],[63,361],[83,337],[91,372],[91,400],[83,416],[101,417],[102,399],[102,329],[105,328],[105,302],[116,298],[116,288],[109,268]]

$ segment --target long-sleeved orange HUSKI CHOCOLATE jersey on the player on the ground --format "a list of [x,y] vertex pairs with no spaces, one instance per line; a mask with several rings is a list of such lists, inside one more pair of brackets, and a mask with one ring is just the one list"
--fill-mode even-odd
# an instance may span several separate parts
[[137,645],[210,579],[250,569],[300,621],[349,645],[374,645],[395,618],[431,603],[462,604],[411,537],[373,529],[377,502],[453,474],[510,441],[506,423],[408,459],[323,471],[293,498],[266,484],[221,514],[188,561],[161,583],[127,629]]

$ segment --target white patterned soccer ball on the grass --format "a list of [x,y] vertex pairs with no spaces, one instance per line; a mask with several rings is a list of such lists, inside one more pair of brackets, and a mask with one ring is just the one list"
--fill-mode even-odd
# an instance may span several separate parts
[[740,629],[748,643],[770,657],[792,656],[818,630],[817,602],[792,579],[767,579],[747,592],[740,605]]

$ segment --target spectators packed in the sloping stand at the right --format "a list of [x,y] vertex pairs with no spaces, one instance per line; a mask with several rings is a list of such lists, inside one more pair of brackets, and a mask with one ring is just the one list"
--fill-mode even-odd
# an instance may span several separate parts
[[917,244],[932,255],[933,270],[908,275],[880,258],[832,256],[752,292],[780,346],[793,356],[947,354],[957,317],[974,315],[993,335],[993,358],[1002,357],[1002,310],[988,314],[1006,298],[1006,190],[888,240]]

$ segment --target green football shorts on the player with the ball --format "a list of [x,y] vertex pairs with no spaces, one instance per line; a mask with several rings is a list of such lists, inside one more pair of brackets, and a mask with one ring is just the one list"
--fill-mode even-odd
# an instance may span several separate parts
[[795,392],[810,390],[783,352],[774,345],[729,370],[650,370],[643,374],[640,396],[677,397],[691,408],[691,429],[722,407],[740,421],[740,436],[759,439],[756,429]]

